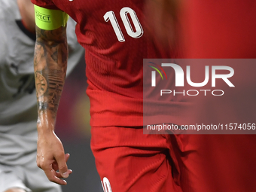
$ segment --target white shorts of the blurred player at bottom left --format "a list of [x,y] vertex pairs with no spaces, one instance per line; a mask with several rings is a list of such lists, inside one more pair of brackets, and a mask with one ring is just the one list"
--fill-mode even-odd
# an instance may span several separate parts
[[0,192],[13,187],[22,188],[26,192],[62,191],[59,184],[48,180],[35,160],[20,166],[6,166],[0,163]]

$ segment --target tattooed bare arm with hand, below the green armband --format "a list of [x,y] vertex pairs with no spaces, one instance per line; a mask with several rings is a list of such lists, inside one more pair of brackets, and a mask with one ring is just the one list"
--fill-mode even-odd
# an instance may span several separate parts
[[[36,26],[35,86],[38,99],[38,154],[37,163],[50,181],[66,184],[72,172],[66,161],[62,142],[54,133],[56,112],[66,78],[68,47],[66,27],[43,30]],[[56,172],[59,170],[59,172]]]

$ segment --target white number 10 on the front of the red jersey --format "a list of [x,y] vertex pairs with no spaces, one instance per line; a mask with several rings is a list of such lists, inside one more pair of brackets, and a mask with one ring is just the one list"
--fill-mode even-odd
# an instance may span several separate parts
[[[130,23],[128,14],[130,14],[130,18],[133,22],[133,26],[134,26],[135,30],[133,30],[133,26]],[[128,35],[130,35],[130,37],[140,38],[143,35],[142,25],[141,25],[141,23],[139,23],[138,17],[136,15],[135,11],[133,11],[133,9],[122,8],[120,10],[120,17],[123,21],[123,25],[126,29],[126,32]],[[105,20],[105,22],[110,21],[110,23],[114,29],[115,35],[117,35],[118,41],[120,41],[120,42],[125,41],[125,39],[123,37],[123,32],[121,31],[120,26],[117,23],[117,18],[115,17],[114,12],[108,11],[107,13],[105,13],[104,20]]]

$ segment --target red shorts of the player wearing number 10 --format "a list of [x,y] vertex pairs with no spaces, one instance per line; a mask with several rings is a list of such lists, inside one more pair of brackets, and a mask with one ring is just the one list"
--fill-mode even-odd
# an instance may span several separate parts
[[187,159],[194,151],[185,135],[145,135],[142,127],[94,127],[91,148],[105,192],[190,188]]

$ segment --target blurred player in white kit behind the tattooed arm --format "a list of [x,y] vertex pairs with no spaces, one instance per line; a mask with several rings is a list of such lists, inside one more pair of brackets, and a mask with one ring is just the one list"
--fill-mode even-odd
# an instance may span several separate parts
[[[0,191],[59,192],[36,166],[36,99],[33,56],[34,6],[25,0],[0,1]],[[69,69],[84,53],[69,20]]]

